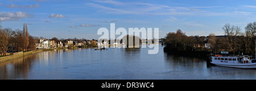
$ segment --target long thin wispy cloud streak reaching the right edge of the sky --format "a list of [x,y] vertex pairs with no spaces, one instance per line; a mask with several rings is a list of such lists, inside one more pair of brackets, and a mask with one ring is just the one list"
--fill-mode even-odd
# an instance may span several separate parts
[[[195,16],[230,16],[250,15],[246,11],[222,11],[224,6],[167,6],[142,2],[121,2],[114,0],[97,0],[86,3],[86,6],[98,9],[98,12],[106,14],[134,14],[134,15],[195,15]],[[221,7],[221,8],[220,8]],[[256,6],[243,6],[256,8]],[[219,11],[205,11],[206,9],[220,9]]]

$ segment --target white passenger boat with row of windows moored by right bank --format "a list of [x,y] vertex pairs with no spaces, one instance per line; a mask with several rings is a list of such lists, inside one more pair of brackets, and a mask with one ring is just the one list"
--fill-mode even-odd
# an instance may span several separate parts
[[252,60],[251,56],[221,56],[214,55],[210,57],[210,63],[222,67],[232,68],[256,68],[256,60]]

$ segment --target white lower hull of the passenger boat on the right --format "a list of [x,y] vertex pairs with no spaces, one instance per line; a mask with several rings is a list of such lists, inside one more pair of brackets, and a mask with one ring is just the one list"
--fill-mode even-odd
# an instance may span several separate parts
[[218,65],[221,67],[232,67],[232,68],[244,68],[244,69],[254,69],[256,68],[256,63],[246,63],[246,64],[216,64],[211,63],[214,65]]

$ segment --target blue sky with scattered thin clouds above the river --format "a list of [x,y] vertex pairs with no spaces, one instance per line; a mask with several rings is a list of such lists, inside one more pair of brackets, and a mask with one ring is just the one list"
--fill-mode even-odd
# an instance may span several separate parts
[[[2,28],[51,39],[98,39],[101,27],[159,28],[159,38],[178,29],[188,36],[224,35],[226,23],[256,21],[256,1],[248,0],[0,0]],[[118,36],[118,35],[115,35]]]

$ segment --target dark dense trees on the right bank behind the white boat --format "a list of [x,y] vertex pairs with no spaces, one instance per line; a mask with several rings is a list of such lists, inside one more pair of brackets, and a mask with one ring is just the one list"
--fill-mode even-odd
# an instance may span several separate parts
[[[220,51],[229,51],[233,55],[243,53],[243,55],[255,54],[255,33],[256,22],[247,23],[245,32],[242,32],[240,26],[225,24],[222,27],[224,36],[209,34],[206,36],[187,36],[181,30],[169,32],[165,37],[164,51],[207,51],[220,53]],[[209,44],[206,48],[205,44]]]

